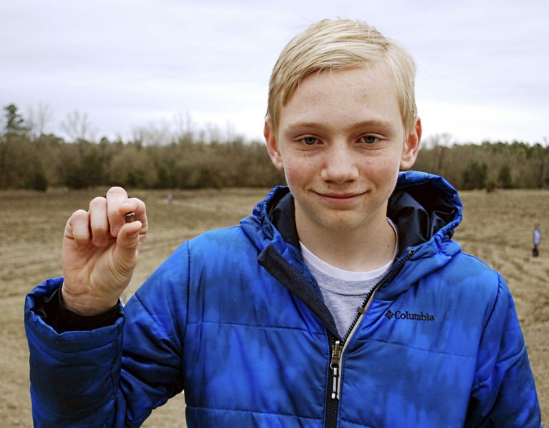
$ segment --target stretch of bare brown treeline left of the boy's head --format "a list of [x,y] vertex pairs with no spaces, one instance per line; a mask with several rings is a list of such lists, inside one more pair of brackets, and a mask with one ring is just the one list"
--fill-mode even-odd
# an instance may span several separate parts
[[4,110],[0,189],[100,185],[198,189],[273,187],[284,182],[265,145],[239,136],[222,139],[221,132],[187,130],[166,141],[165,133],[141,129],[127,142],[82,137],[67,142],[54,134],[33,135],[16,107]]

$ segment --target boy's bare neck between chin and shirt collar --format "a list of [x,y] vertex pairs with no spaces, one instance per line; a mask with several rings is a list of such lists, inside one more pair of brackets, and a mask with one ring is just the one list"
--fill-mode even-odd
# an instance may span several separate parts
[[386,265],[395,255],[397,237],[385,216],[361,230],[304,227],[296,216],[296,228],[299,240],[309,251],[343,270],[375,270]]

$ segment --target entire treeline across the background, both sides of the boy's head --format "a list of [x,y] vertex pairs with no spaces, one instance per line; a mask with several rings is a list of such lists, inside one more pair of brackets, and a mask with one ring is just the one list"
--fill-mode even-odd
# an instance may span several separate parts
[[[0,189],[101,185],[198,189],[273,187],[284,182],[263,142],[189,127],[167,134],[142,128],[130,141],[86,137],[85,116],[69,117],[72,141],[37,132],[14,104],[4,108],[0,132]],[[214,130],[215,131],[215,130]],[[513,141],[456,144],[430,136],[414,169],[440,174],[458,189],[549,187],[549,146]]]

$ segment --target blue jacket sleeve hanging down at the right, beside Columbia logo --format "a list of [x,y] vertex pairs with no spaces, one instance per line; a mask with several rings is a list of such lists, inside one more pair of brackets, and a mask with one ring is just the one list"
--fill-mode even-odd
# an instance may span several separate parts
[[539,428],[539,403],[515,304],[499,274],[498,281],[478,350],[466,426]]

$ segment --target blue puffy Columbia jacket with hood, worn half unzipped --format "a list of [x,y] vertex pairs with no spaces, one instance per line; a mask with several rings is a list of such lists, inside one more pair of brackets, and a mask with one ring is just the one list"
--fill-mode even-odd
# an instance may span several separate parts
[[117,320],[57,333],[27,296],[36,427],[138,427],[185,390],[189,427],[539,427],[503,278],[460,252],[458,195],[402,173],[399,255],[345,337],[301,254],[278,187],[240,226],[183,243]]

